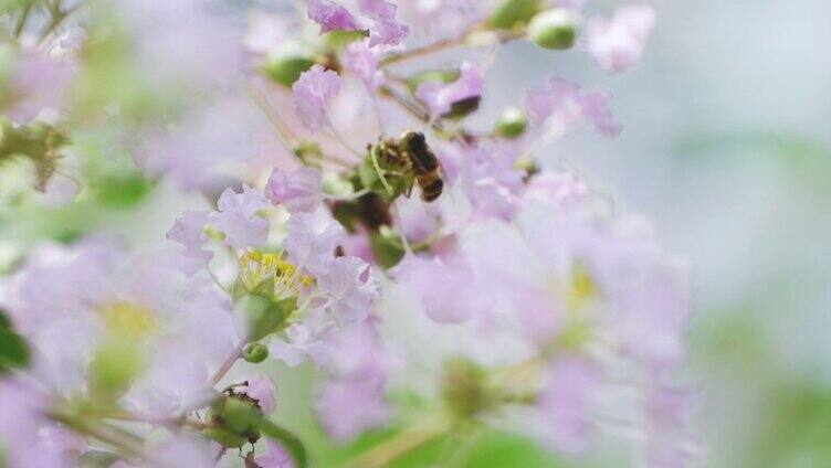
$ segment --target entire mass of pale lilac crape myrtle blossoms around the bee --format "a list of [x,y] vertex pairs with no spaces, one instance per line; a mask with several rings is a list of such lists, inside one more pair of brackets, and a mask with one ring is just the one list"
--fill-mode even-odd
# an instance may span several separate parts
[[[73,26],[88,34],[55,38],[71,13],[57,2],[34,45],[25,3],[0,160],[22,153],[45,182],[73,132],[104,126],[147,177],[207,204],[157,247],[44,244],[3,279],[0,332],[31,355],[8,369],[0,355],[0,465],[201,467],[239,448],[246,467],[308,466],[269,375],[313,369],[334,443],[400,430],[349,466],[495,426],[559,454],[627,434],[642,466],[693,459],[695,393],[675,379],[686,268],[648,222],[541,157],[581,127],[617,136],[611,94],[551,77],[483,128],[467,119],[488,93],[477,54],[418,66],[528,41],[618,73],[643,56],[653,10],[581,28],[579,1],[404,3],[306,0],[252,13],[240,40],[200,2],[138,0],[115,2],[125,31],[90,13]],[[158,34],[124,47],[143,28]],[[130,92],[103,86],[113,76]],[[86,107],[56,92],[71,79]],[[32,120],[73,105],[55,126]]]

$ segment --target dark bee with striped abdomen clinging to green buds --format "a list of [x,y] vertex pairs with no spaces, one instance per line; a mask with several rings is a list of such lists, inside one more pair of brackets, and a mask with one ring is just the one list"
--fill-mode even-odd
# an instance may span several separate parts
[[[390,195],[403,192],[409,198],[416,183],[421,189],[421,200],[427,203],[442,194],[441,164],[427,145],[424,134],[404,131],[398,139],[382,140],[370,148],[370,158]],[[388,181],[388,177],[392,178]]]

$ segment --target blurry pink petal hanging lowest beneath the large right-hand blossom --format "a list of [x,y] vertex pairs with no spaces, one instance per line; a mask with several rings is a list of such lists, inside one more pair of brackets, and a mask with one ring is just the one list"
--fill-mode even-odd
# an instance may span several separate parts
[[579,358],[560,358],[550,372],[551,381],[537,403],[547,438],[559,450],[578,451],[589,436],[591,397],[600,385],[599,375]]

